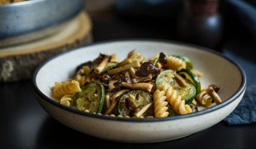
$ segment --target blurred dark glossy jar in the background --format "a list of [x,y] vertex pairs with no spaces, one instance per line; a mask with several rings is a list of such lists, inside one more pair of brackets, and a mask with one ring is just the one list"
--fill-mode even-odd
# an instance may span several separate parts
[[219,0],[183,0],[177,19],[177,39],[220,50],[223,20]]

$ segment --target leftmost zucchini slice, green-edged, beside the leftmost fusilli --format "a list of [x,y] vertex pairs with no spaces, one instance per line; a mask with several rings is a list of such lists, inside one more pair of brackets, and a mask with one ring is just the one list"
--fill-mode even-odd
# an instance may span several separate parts
[[81,111],[89,110],[91,113],[101,113],[105,100],[104,86],[98,81],[91,81],[81,90],[73,96],[70,107]]

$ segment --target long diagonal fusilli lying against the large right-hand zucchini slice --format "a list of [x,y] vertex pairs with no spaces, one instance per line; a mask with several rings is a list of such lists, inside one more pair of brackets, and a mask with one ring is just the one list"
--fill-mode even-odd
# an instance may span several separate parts
[[189,105],[185,104],[184,100],[181,100],[181,95],[178,95],[177,90],[172,89],[172,86],[167,84],[159,85],[159,90],[165,92],[166,100],[171,104],[175,111],[180,112],[180,114],[192,113],[192,109]]

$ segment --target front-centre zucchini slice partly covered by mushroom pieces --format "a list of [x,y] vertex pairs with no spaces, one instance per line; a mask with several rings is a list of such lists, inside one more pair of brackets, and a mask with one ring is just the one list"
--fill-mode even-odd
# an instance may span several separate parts
[[[121,96],[119,104],[117,104],[116,114],[120,114],[122,116],[126,116],[126,115],[129,116],[129,113],[131,112],[131,110],[126,108],[126,105],[125,105],[126,98],[131,98],[134,101],[136,107],[144,106],[154,101],[152,95],[143,90],[132,90],[130,92],[126,92]],[[146,112],[142,114],[142,116],[144,117],[154,116],[154,106],[149,107],[148,110],[146,110]]]

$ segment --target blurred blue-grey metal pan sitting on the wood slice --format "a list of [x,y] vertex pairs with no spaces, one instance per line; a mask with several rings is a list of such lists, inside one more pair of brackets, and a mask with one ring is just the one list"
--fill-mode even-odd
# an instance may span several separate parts
[[51,35],[83,8],[84,0],[27,0],[0,5],[0,47]]

